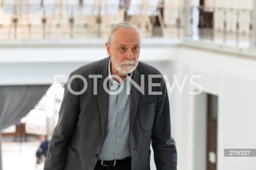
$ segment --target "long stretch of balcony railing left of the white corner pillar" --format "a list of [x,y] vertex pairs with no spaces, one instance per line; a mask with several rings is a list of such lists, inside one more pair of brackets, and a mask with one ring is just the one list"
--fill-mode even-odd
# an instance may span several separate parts
[[130,5],[119,5],[119,0],[84,2],[87,4],[0,4],[0,39],[104,37],[121,21],[132,22],[145,37],[181,36],[181,7],[146,3],[153,1],[131,0],[136,3]]

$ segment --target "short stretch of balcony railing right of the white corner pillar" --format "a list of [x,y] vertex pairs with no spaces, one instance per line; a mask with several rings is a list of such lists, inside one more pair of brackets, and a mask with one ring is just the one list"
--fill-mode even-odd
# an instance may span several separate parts
[[[233,46],[253,46],[253,11],[220,7],[191,7],[199,13],[199,38]],[[191,25],[194,20],[191,19]],[[193,33],[190,33],[193,37]]]

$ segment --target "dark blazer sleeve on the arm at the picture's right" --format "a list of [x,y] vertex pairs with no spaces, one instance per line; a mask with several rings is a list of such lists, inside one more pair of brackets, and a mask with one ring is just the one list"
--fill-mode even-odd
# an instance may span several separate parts
[[164,78],[157,96],[156,115],[151,137],[157,170],[177,170],[177,149],[171,136],[170,103]]

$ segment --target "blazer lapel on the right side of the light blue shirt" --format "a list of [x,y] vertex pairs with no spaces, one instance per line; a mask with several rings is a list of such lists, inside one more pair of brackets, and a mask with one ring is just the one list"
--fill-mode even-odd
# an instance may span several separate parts
[[[132,80],[141,86],[141,74],[142,69],[140,68],[139,64],[137,68],[132,73]],[[132,85],[131,88],[131,107],[130,107],[130,132],[133,126],[134,118],[137,112],[138,103],[140,98],[140,91]]]

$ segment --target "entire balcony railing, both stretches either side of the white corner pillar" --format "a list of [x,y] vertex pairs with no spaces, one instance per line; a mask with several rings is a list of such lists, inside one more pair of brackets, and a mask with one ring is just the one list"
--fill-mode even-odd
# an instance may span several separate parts
[[190,25],[197,29],[191,29],[189,37],[253,45],[251,10],[193,6],[186,11],[182,6],[159,4],[158,0],[131,0],[130,5],[120,5],[119,0],[86,0],[81,4],[61,0],[44,0],[44,4],[12,1],[0,4],[0,39],[106,37],[109,29],[121,21],[132,22],[144,37],[180,38],[185,36],[185,14],[189,13]]

